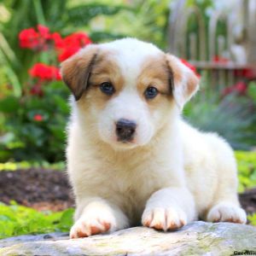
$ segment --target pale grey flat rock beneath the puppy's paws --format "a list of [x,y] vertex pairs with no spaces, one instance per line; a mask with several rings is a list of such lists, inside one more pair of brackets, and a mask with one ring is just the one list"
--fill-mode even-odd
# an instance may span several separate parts
[[73,240],[68,239],[67,233],[16,236],[0,240],[0,255],[6,256],[232,255],[235,251],[241,253],[245,250],[256,253],[256,228],[243,224],[201,221],[167,233],[136,227],[110,235]]

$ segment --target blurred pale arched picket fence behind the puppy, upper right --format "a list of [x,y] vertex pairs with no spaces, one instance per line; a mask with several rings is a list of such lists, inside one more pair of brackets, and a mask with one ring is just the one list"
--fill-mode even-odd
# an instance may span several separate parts
[[[213,87],[235,84],[248,70],[256,72],[256,0],[237,0],[228,12],[216,9],[208,19],[204,15],[198,7],[188,7],[186,0],[172,4],[170,52],[206,73]],[[194,32],[188,30],[191,18]],[[217,32],[220,23],[222,34]]]

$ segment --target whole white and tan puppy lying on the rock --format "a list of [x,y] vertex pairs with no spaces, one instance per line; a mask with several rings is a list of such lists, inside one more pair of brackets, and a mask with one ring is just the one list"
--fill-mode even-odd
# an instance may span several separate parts
[[61,73],[73,92],[72,238],[139,224],[175,230],[198,218],[246,223],[232,149],[180,117],[199,81],[175,56],[125,38],[81,49]]

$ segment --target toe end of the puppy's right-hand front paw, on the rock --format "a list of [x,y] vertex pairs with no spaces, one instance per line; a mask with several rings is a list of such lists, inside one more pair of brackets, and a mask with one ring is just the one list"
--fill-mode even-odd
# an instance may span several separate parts
[[143,226],[155,230],[177,230],[187,224],[187,217],[179,207],[146,208],[142,222]]

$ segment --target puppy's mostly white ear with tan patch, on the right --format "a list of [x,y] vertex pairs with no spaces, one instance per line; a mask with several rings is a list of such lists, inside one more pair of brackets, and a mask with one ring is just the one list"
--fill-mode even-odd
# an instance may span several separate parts
[[166,54],[167,65],[171,73],[172,95],[177,106],[182,109],[184,104],[199,89],[199,79],[195,73],[177,57]]

